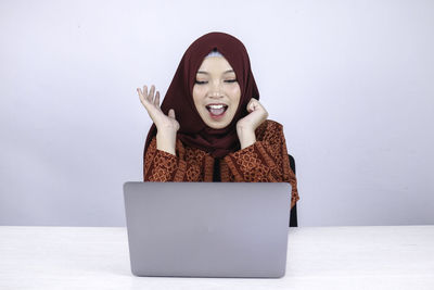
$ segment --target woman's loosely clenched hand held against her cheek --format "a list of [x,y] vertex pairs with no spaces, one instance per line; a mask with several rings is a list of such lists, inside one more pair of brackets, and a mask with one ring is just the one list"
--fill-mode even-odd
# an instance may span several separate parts
[[240,139],[241,149],[256,142],[255,130],[268,117],[267,110],[256,99],[252,98],[246,109],[250,114],[237,123],[237,134]]

